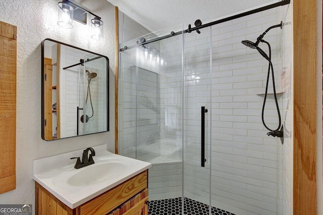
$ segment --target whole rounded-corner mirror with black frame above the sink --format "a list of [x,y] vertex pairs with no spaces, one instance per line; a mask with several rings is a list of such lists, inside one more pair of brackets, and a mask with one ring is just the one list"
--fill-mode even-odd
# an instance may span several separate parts
[[109,58],[45,39],[41,76],[42,139],[109,131]]

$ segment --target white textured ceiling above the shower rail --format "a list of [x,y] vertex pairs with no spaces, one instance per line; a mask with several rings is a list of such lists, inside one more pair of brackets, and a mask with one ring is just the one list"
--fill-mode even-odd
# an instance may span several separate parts
[[149,29],[157,31],[197,19],[219,19],[280,0],[107,0]]

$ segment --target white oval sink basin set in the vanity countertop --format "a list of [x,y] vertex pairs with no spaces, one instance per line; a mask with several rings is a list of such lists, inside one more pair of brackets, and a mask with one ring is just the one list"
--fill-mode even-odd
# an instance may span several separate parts
[[98,163],[80,169],[72,175],[67,183],[71,186],[87,186],[119,176],[127,169],[127,165],[118,161]]

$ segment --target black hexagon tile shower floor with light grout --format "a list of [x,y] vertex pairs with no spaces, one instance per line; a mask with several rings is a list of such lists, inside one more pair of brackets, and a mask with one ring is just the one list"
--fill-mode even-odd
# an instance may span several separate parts
[[[190,198],[184,198],[184,214],[186,215],[207,215],[208,205],[195,201]],[[179,215],[182,213],[182,198],[168,198],[149,201],[149,215]],[[234,213],[212,207],[212,215],[235,215]]]

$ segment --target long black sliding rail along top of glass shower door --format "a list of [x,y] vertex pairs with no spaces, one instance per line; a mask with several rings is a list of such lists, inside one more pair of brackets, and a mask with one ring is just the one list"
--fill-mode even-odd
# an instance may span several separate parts
[[[244,13],[241,13],[241,14],[233,15],[231,17],[227,17],[227,18],[224,18],[224,19],[221,19],[221,20],[217,20],[217,21],[213,21],[213,22],[210,22],[210,23],[206,23],[204,25],[201,25],[201,26],[198,26],[198,27],[195,27],[195,28],[189,27],[187,30],[178,31],[178,32],[175,32],[174,34],[166,35],[166,36],[163,36],[163,37],[158,37],[158,38],[155,38],[155,39],[146,41],[146,42],[144,42],[143,44],[140,44],[140,45],[144,45],[144,44],[156,42],[156,41],[163,40],[163,39],[166,39],[166,38],[170,38],[172,36],[176,36],[176,35],[180,35],[180,34],[190,33],[192,31],[196,31],[198,29],[202,29],[202,28],[206,28],[206,27],[209,27],[209,26],[212,26],[212,25],[224,23],[224,22],[227,22],[227,21],[231,21],[231,20],[234,20],[234,19],[238,19],[238,18],[241,18],[241,17],[245,17],[245,16],[248,16],[248,15],[251,15],[251,14],[255,14],[255,13],[258,13],[258,12],[266,11],[266,10],[269,10],[269,9],[272,9],[272,8],[276,8],[276,7],[279,7],[279,6],[288,5],[288,4],[290,4],[290,2],[291,2],[290,0],[283,0],[283,1],[278,2],[278,3],[274,3],[274,4],[271,4],[271,5],[267,5],[267,6],[264,6],[264,7],[261,7],[261,8],[257,8],[257,9],[251,10],[251,11],[247,11],[247,12],[244,12]],[[132,45],[132,46],[129,46],[127,48],[134,48],[134,47],[137,47],[137,45]],[[124,51],[124,50],[125,50],[124,48],[121,48],[120,49],[120,51]]]

